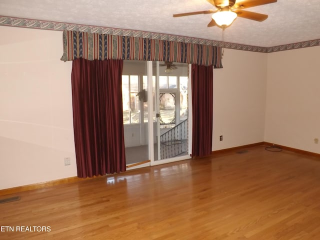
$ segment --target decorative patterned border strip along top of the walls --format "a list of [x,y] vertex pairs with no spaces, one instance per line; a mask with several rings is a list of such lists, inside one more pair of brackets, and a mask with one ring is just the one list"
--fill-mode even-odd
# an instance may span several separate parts
[[72,30],[72,31],[103,33],[103,34],[110,34],[110,35],[134,36],[134,37],[143,37],[143,38],[151,38],[151,39],[221,46],[224,48],[244,50],[244,51],[255,51],[255,52],[274,52],[274,51],[283,51],[283,50],[320,45],[320,39],[315,39],[315,40],[302,41],[297,43],[290,43],[290,44],[271,46],[271,47],[251,46],[251,45],[244,45],[244,44],[238,44],[238,43],[222,42],[222,41],[208,40],[208,39],[188,37],[188,36],[170,35],[170,34],[157,33],[157,32],[137,31],[137,30],[120,29],[120,28],[103,27],[103,26],[91,26],[91,25],[73,24],[73,23],[56,22],[56,21],[44,21],[44,20],[1,16],[1,15],[0,15],[0,25],[27,27],[27,28],[45,29],[45,30],[57,30],[57,31]]

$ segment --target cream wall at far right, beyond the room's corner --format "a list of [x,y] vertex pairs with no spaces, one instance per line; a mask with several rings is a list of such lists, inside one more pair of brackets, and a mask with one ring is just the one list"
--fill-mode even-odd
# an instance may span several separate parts
[[267,54],[265,141],[320,153],[320,46]]

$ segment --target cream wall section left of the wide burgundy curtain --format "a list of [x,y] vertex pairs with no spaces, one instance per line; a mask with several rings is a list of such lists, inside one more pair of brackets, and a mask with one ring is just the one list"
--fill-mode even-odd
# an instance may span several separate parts
[[60,60],[62,33],[0,32],[0,189],[75,176],[72,62]]

